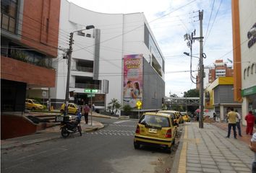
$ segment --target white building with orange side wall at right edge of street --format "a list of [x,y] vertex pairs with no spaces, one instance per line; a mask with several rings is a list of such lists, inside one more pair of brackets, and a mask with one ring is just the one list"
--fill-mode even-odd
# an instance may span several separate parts
[[256,1],[232,1],[234,100],[242,102],[242,115],[256,114]]

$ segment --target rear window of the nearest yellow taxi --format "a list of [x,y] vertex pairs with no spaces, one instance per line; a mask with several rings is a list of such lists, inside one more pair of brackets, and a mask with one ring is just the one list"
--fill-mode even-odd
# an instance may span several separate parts
[[168,117],[143,115],[139,121],[140,124],[150,127],[166,128],[170,127]]

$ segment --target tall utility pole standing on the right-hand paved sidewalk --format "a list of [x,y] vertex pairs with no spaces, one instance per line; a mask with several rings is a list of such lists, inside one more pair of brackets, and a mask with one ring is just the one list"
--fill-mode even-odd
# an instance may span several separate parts
[[202,57],[202,19],[203,19],[203,10],[200,12],[199,11],[199,20],[200,20],[200,116],[199,116],[199,128],[203,128],[203,94],[204,94],[204,89],[203,89],[203,79],[205,76],[204,72],[204,65],[203,65],[203,57]]

